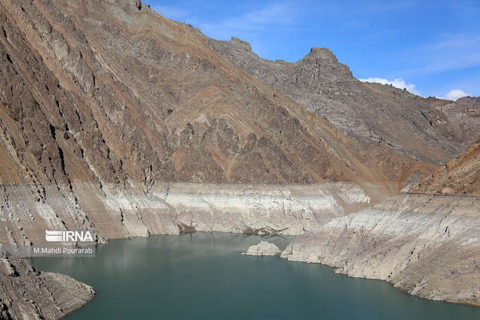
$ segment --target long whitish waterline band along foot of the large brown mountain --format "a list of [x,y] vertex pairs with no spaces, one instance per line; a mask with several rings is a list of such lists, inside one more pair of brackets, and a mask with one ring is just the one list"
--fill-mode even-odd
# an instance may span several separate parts
[[0,244],[43,244],[46,229],[93,229],[99,242],[180,231],[299,235],[371,202],[352,183],[141,186],[73,183],[70,198],[57,185],[3,185]]

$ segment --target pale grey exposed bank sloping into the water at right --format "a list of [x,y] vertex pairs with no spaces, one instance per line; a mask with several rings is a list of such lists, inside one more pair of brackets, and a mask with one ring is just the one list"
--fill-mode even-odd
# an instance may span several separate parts
[[480,197],[400,194],[296,238],[282,256],[480,306]]

